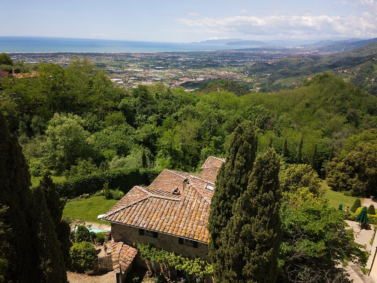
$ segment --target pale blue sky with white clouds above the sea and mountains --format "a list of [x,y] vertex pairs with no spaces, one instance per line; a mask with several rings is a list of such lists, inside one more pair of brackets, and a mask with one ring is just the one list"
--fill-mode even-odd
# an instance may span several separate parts
[[2,1],[0,36],[155,42],[377,37],[377,0]]

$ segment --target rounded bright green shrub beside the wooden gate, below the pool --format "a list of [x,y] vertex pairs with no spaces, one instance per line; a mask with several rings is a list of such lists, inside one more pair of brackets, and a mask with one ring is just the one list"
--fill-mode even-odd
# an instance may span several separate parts
[[74,243],[70,248],[69,255],[71,258],[71,270],[84,273],[93,269],[95,248],[91,243],[87,241]]

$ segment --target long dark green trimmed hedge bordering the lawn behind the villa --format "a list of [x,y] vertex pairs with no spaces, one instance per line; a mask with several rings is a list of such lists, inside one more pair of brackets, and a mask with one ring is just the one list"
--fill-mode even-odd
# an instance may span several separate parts
[[149,185],[161,171],[155,169],[116,169],[106,172],[95,172],[56,184],[60,197],[74,198],[82,194],[93,194],[100,191],[104,183],[109,189],[120,189],[127,193],[133,186]]

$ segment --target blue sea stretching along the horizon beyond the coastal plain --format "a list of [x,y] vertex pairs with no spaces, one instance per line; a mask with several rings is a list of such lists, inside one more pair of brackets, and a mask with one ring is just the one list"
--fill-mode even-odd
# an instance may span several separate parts
[[0,36],[0,53],[7,52],[178,52],[243,49],[255,46],[142,42],[61,37]]

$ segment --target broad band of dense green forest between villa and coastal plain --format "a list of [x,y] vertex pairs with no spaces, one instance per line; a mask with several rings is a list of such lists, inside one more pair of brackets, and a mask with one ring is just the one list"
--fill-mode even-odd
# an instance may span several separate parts
[[377,97],[332,74],[279,92],[246,94],[222,80],[196,94],[162,83],[122,89],[77,57],[68,68],[41,63],[37,77],[3,78],[1,88],[0,110],[34,177],[135,167],[195,172],[209,155],[225,157],[231,132],[251,121],[257,154],[272,146],[285,163],[310,164],[325,178],[349,139],[377,128]]

